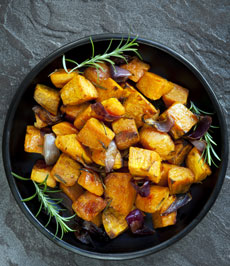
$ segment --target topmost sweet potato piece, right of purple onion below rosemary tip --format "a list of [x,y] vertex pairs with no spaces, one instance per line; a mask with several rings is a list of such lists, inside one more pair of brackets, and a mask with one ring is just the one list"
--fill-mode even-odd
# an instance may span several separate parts
[[150,65],[135,57],[128,64],[121,65],[120,67],[128,70],[132,74],[129,79],[138,82],[144,73],[149,70]]

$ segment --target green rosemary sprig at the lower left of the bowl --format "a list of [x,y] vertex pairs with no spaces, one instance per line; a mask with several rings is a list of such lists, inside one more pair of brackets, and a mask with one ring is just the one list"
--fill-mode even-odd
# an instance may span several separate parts
[[[14,177],[20,179],[20,180],[23,180],[23,181],[28,181],[28,180],[31,180],[30,178],[25,178],[25,177],[22,177],[22,176],[19,176],[15,173],[11,173]],[[59,211],[60,211],[60,208],[57,206],[59,203],[61,203],[62,199],[51,199],[47,193],[54,193],[54,192],[59,192],[60,190],[48,190],[47,189],[47,178],[48,178],[48,175],[46,176],[45,180],[41,183],[41,184],[37,184],[36,182],[32,181],[34,186],[35,186],[35,193],[26,198],[26,199],[23,199],[22,201],[25,202],[25,201],[29,201],[29,200],[32,200],[33,198],[35,198],[36,196],[38,197],[38,200],[40,201],[40,207],[38,209],[38,212],[36,213],[35,217],[37,217],[42,208],[46,211],[46,213],[49,215],[49,219],[48,219],[48,222],[46,223],[45,227],[47,227],[51,221],[51,218],[54,217],[55,218],[55,221],[56,221],[56,232],[55,232],[55,235],[54,235],[54,238],[57,237],[57,234],[58,234],[58,231],[59,231],[59,228],[61,229],[61,237],[60,239],[63,238],[64,236],[64,233],[67,233],[67,232],[74,232],[75,230],[71,229],[67,224],[66,222],[69,222],[73,217],[75,217],[75,215],[73,216],[70,216],[70,217],[62,217],[60,214],[59,214]]]

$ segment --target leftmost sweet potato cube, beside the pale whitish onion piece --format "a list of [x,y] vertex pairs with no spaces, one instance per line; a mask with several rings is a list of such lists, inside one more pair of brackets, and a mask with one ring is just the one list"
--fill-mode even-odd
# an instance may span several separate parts
[[40,130],[34,126],[27,126],[24,142],[24,150],[26,152],[42,153],[44,137]]

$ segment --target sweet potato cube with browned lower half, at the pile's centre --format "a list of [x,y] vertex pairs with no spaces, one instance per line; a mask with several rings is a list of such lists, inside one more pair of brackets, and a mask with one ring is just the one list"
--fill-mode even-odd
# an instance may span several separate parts
[[119,150],[125,150],[140,140],[135,120],[132,118],[120,118],[112,123],[112,128]]

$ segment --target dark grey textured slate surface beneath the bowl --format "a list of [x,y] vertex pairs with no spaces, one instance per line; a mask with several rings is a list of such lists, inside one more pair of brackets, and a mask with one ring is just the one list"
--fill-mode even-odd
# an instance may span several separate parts
[[[209,81],[230,123],[229,0],[0,1],[0,125],[25,75],[69,41],[130,32],[184,55]],[[117,265],[74,255],[38,232],[19,210],[1,160],[0,265]],[[215,205],[182,240],[157,254],[121,265],[230,265],[230,169]]]

